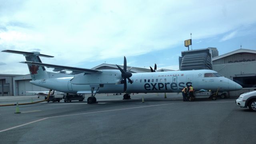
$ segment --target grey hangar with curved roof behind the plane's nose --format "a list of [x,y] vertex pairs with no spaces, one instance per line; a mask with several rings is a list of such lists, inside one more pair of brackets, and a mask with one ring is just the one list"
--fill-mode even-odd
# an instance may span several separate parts
[[238,95],[256,88],[256,50],[238,49],[212,58],[212,68],[226,78],[240,84],[243,89],[230,92]]

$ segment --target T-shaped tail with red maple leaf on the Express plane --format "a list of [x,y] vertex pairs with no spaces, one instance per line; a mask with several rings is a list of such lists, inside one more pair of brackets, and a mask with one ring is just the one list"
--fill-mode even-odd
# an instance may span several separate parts
[[[16,51],[16,50],[3,50],[2,52],[10,52],[10,53],[15,53],[15,54],[23,54],[25,56],[26,61],[30,62],[40,62],[39,56],[47,57],[47,58],[53,58],[54,56],[48,56],[44,54],[40,54],[40,52],[21,52],[21,51]],[[28,64],[28,69],[30,71],[30,76],[32,80],[40,80],[40,79],[46,79],[48,78],[46,69],[44,66],[36,66],[32,64]]]

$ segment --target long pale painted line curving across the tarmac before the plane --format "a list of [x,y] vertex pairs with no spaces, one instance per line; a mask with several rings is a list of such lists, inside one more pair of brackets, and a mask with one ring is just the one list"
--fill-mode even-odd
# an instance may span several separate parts
[[[234,101],[232,101],[232,102],[234,102]],[[202,104],[202,103],[227,103],[227,102],[180,102],[180,103],[169,103],[169,104],[157,104],[157,105],[152,105],[152,106],[139,106],[139,107],[133,107],[133,108],[121,108],[121,109],[115,109],[115,110],[103,110],[103,111],[98,111],[98,112],[86,112],[86,113],[80,113],[80,114],[69,114],[69,115],[63,115],[63,116],[51,116],[51,117],[47,117],[47,118],[42,118],[40,120],[35,120],[35,121],[32,121],[32,122],[28,122],[26,124],[21,124],[21,125],[18,125],[18,126],[14,126],[14,127],[11,127],[11,128],[0,130],[0,132],[5,132],[7,130],[11,130],[11,129],[18,128],[18,127],[21,127],[21,126],[32,124],[34,122],[39,122],[39,121],[42,121],[42,120],[46,120],[48,118],[59,118],[59,117],[64,117],[64,116],[76,116],[76,115],[82,115],[82,114],[95,114],[95,113],[101,113],[101,112],[112,112],[112,111],[129,110],[129,109],[135,109],[135,108],[147,108],[147,107],[153,107],[153,106],[165,106],[165,105],[170,105],[170,104]]]

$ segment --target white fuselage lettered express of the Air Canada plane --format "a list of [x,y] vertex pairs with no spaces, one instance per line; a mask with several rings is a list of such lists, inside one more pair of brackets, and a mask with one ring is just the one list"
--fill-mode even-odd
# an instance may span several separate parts
[[[120,73],[119,70],[112,70],[112,73]],[[242,86],[225,78],[220,77],[204,77],[205,73],[217,73],[213,70],[185,70],[185,71],[168,71],[168,72],[146,72],[133,73],[130,84],[127,81],[126,93],[155,93],[155,92],[181,92],[186,86],[192,85],[195,90],[212,90],[220,92],[240,90]],[[92,78],[93,74],[78,74],[78,75],[64,75],[63,77],[51,78],[44,80],[33,80],[30,83],[49,88],[52,90],[65,93],[89,93],[91,90],[90,84],[84,84],[86,80]],[[97,93],[123,93],[124,84],[106,84],[110,76],[101,77],[100,80],[95,79],[95,83],[100,84],[104,81],[104,86],[100,87]],[[82,82],[76,82],[79,79]],[[113,80],[118,80],[121,77],[113,74]],[[74,79],[72,81],[72,79]],[[110,81],[111,81],[110,80]],[[90,81],[92,83],[92,80]],[[86,83],[86,82],[85,82]],[[85,92],[86,91],[86,92]]]

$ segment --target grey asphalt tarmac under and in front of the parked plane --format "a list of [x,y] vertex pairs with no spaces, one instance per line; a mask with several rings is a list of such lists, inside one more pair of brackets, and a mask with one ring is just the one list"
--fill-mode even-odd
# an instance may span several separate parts
[[[181,94],[96,94],[98,104],[42,102],[0,107],[1,144],[254,143],[255,112],[236,98],[183,102]],[[43,100],[3,96],[0,104]],[[142,98],[144,103],[142,103]]]

